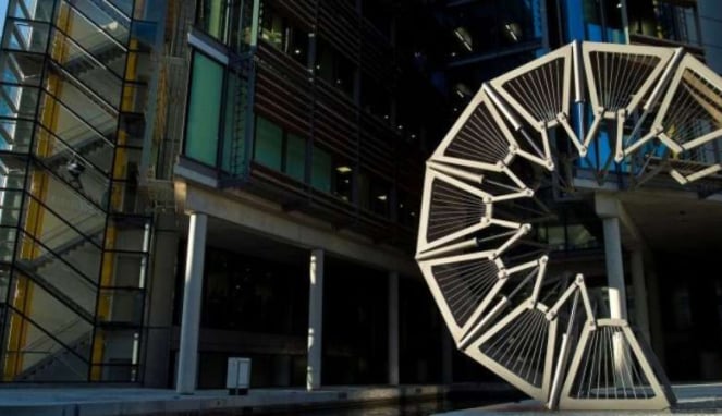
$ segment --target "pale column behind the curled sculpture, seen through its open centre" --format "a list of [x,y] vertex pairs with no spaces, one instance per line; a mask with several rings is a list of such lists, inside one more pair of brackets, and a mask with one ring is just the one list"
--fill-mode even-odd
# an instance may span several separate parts
[[607,217],[604,227],[604,257],[607,259],[607,282],[609,285],[609,311],[611,318],[627,317],[626,293],[624,286],[624,264],[622,260],[622,238],[620,219]]

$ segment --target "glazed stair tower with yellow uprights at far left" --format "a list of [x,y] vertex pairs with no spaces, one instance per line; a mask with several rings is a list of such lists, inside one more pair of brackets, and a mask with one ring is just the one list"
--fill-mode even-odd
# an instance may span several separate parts
[[0,52],[3,381],[138,381],[151,223],[136,184],[156,24],[135,17],[163,3],[10,1]]

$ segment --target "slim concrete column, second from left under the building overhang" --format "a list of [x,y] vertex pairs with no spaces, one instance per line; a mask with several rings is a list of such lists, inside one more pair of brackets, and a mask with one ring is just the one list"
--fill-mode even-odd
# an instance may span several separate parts
[[308,294],[308,365],[306,390],[321,387],[321,343],[323,340],[323,250],[310,254]]

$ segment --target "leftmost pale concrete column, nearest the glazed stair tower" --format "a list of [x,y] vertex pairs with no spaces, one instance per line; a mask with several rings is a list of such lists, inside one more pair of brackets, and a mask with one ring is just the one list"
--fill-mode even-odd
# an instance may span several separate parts
[[183,289],[183,317],[181,318],[181,344],[178,362],[175,390],[179,394],[193,394],[196,389],[198,363],[198,332],[200,331],[200,295],[203,292],[203,268],[206,255],[205,213],[191,215],[188,247],[185,260],[185,285]]

